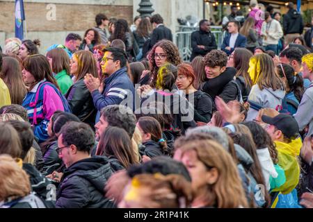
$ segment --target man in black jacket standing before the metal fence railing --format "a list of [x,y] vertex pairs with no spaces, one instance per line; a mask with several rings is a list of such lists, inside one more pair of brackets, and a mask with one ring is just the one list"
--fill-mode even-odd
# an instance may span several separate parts
[[199,27],[199,31],[191,34],[193,53],[191,54],[190,61],[196,56],[205,56],[212,49],[217,49],[215,37],[210,31],[210,22],[207,19],[202,19],[199,22]]

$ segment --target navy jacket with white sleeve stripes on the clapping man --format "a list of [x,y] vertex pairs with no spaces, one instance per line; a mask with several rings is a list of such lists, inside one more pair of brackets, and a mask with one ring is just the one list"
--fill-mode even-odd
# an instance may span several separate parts
[[[135,88],[127,74],[127,68],[123,67],[115,71],[111,76],[104,79],[104,91],[100,94],[96,89],[91,93],[93,104],[98,110],[96,123],[100,119],[100,111],[108,105],[118,105],[122,101],[127,101],[127,105],[134,110]],[[131,103],[131,104],[130,104]]]

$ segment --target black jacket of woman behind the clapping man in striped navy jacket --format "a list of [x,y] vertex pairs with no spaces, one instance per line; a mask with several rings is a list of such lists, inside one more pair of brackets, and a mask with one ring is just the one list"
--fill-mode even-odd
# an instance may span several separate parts
[[68,89],[65,98],[70,105],[72,113],[79,117],[81,121],[94,128],[97,110],[93,105],[93,97],[85,83],[83,83],[83,79],[78,80]]

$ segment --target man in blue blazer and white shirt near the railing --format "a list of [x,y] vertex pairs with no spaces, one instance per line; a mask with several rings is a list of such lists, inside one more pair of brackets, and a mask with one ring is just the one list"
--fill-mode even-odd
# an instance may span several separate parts
[[221,49],[227,53],[227,56],[230,56],[236,47],[246,47],[247,38],[239,34],[239,22],[230,21],[227,28],[229,35],[224,38]]

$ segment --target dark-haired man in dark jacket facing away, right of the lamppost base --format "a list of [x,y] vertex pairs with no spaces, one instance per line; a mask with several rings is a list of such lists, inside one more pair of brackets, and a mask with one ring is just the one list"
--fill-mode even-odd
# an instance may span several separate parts
[[153,15],[150,19],[154,30],[152,31],[151,40],[150,40],[150,49],[159,42],[160,40],[170,40],[172,41],[172,31],[170,28],[166,28],[163,24],[163,18],[161,15]]

